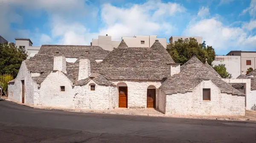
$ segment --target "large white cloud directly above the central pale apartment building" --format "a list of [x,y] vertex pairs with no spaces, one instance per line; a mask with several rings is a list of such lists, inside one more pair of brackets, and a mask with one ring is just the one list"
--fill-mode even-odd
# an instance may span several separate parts
[[129,8],[105,4],[101,16],[106,26],[100,29],[99,34],[109,34],[114,40],[120,40],[121,36],[169,34],[174,27],[166,19],[184,11],[186,8],[177,3],[155,0]]

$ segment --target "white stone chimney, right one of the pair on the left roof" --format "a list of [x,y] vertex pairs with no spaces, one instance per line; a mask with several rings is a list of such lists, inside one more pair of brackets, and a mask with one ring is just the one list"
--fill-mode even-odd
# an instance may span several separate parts
[[80,59],[79,60],[79,73],[78,80],[86,79],[90,76],[90,60]]

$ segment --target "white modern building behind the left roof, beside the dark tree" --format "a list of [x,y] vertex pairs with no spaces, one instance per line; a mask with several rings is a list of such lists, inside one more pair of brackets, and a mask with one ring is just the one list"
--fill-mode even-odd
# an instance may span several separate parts
[[32,44],[33,42],[28,38],[15,38],[15,45],[17,46],[17,48],[25,48],[28,54],[27,59],[30,59],[33,56],[35,56],[35,54],[37,54],[41,48],[41,46],[32,46]]

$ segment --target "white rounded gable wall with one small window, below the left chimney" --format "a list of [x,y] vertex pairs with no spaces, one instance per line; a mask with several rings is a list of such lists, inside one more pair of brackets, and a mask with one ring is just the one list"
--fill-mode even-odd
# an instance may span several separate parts
[[[61,86],[65,86],[65,91],[61,91]],[[36,106],[74,108],[72,82],[61,71],[50,73],[41,83],[38,92],[38,95],[35,94]]]

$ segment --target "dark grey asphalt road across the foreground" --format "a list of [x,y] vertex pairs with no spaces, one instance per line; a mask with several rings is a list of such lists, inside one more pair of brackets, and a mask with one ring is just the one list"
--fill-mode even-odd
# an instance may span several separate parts
[[33,109],[0,101],[0,143],[256,143],[256,124]]

